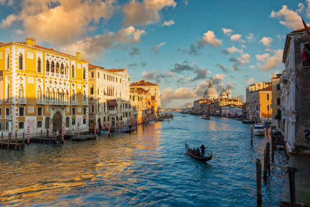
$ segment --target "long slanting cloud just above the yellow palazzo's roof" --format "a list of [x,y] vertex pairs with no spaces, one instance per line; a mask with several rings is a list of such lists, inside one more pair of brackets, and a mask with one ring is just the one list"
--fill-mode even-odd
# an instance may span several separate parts
[[144,30],[129,26],[119,30],[117,33],[108,32],[95,37],[84,38],[81,41],[76,41],[62,47],[61,51],[69,54],[79,51],[83,57],[94,58],[99,56],[104,50],[109,49],[112,45],[118,46],[137,43],[145,33]]

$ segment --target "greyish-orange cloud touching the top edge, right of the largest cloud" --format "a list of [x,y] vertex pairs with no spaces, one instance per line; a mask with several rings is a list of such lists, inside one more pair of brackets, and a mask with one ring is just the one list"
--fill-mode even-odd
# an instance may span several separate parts
[[177,3],[174,0],[143,0],[131,1],[125,5],[123,12],[125,21],[123,25],[141,25],[146,26],[160,21],[159,11],[165,7],[175,8]]

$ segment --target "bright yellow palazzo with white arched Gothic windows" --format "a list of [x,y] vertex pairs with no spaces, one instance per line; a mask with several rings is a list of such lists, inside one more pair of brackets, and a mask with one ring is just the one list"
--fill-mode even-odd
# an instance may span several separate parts
[[34,38],[0,43],[1,130],[88,130],[88,62]]

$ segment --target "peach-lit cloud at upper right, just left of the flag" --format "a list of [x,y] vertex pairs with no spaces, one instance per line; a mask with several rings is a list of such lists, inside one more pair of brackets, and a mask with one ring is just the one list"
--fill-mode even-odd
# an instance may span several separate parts
[[[307,0],[308,2],[309,0]],[[307,12],[309,7],[307,8]],[[290,10],[286,5],[282,6],[282,9],[280,9],[278,12],[275,12],[274,10],[270,14],[270,17],[272,18],[284,18],[285,20],[280,20],[280,24],[285,25],[289,29],[299,29],[303,27],[302,21],[300,16],[297,12]]]

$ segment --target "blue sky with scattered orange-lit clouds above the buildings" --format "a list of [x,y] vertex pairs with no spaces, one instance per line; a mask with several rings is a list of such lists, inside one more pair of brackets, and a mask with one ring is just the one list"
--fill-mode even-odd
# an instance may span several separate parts
[[203,97],[210,80],[245,100],[281,73],[286,34],[310,22],[306,1],[0,0],[0,42],[37,45],[159,84],[162,107]]

